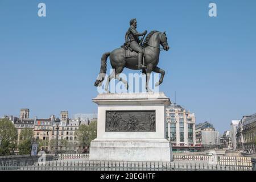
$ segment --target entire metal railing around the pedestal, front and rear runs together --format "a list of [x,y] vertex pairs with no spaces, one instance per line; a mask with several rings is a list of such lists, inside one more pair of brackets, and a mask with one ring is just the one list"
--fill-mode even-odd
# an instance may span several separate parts
[[113,162],[92,161],[88,154],[46,155],[42,162],[40,156],[15,155],[0,156],[0,170],[43,170],[43,171],[251,171],[250,158],[223,156],[174,155],[173,162]]

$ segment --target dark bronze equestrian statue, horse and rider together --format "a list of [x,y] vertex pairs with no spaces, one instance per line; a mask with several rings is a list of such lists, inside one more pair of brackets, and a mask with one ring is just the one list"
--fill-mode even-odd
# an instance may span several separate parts
[[[148,81],[150,80],[151,72],[160,73],[161,77],[155,86],[159,86],[163,82],[164,70],[157,67],[159,62],[159,54],[163,49],[169,50],[166,32],[151,31],[145,41],[144,37],[147,31],[139,33],[137,30],[137,20],[135,18],[130,20],[130,27],[125,35],[125,43],[121,48],[114,49],[112,52],[106,52],[101,57],[101,69],[100,75],[94,83],[94,86],[101,86],[106,75],[106,61],[110,57],[110,64],[114,69],[108,76],[106,81],[105,90],[109,92],[109,82],[112,78],[122,81],[128,89],[128,83],[126,80],[119,77],[123,68],[129,68],[133,70],[142,70],[142,73],[146,74],[146,90],[151,92],[148,88]],[[140,40],[139,37],[143,36]],[[160,45],[163,48],[160,48]]]

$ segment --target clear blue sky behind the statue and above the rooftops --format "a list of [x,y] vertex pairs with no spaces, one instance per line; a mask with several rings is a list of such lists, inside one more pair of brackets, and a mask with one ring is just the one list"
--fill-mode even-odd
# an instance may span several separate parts
[[[47,6],[39,18],[38,3]],[[217,4],[217,17],[208,5]],[[129,20],[166,31],[160,91],[220,133],[256,112],[256,1],[0,0],[0,115],[96,113],[102,53],[121,46]],[[108,61],[108,73],[109,73]],[[125,70],[125,73],[129,71]]]

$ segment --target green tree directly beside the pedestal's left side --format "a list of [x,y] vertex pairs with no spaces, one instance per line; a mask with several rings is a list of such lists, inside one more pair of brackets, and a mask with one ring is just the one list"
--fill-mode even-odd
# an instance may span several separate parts
[[84,124],[80,125],[75,135],[82,148],[89,147],[90,142],[97,137],[97,122],[93,121],[88,126]]

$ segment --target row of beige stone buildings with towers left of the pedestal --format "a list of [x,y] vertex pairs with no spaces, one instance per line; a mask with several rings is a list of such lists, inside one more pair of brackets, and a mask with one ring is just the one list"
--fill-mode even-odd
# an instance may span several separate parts
[[[34,139],[39,143],[39,149],[46,153],[54,153],[56,150],[57,126],[55,115],[49,118],[30,119],[29,109],[20,110],[20,118],[13,119],[14,126],[18,133],[18,143],[20,133],[23,129],[30,128],[34,131]],[[89,125],[92,121],[97,121],[97,114],[80,114],[90,116],[87,118],[68,118],[68,111],[60,112],[60,123],[58,132],[58,152],[82,152],[76,131],[80,125]]]

